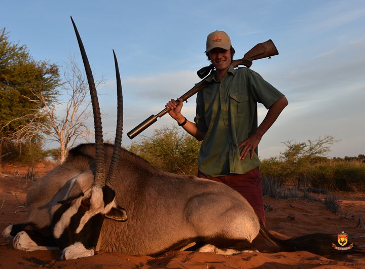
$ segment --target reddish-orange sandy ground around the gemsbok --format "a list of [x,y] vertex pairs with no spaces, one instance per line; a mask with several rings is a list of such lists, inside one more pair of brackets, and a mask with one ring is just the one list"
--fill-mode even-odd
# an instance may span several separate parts
[[[48,169],[44,165],[38,166],[36,176],[42,176]],[[8,225],[26,219],[24,203],[31,184],[24,177],[25,168],[7,167],[3,173],[0,174],[0,232]],[[365,195],[336,195],[341,201],[337,214],[326,210],[320,202],[265,198],[265,204],[272,207],[266,212],[267,227],[288,237],[311,233],[337,235],[345,231],[349,243],[365,245],[365,227],[358,225],[359,216],[365,219]],[[365,268],[364,255],[321,256],[306,251],[275,253],[275,248],[261,236],[254,241],[260,253],[232,256],[190,251],[169,251],[158,257],[98,252],[93,257],[60,261],[60,251],[17,251],[4,238],[0,238],[0,245],[0,268]]]

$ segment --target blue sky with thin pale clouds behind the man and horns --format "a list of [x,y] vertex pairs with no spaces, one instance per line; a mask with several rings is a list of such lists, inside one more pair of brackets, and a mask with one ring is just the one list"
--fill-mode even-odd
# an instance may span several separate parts
[[[61,70],[70,55],[82,64],[69,17],[74,18],[95,78],[105,79],[98,93],[106,139],[113,139],[116,121],[112,49],[122,78],[126,134],[200,81],[196,71],[208,64],[206,36],[224,30],[236,58],[268,39],[279,51],[251,67],[289,100],[260,143],[261,158],[279,155],[281,142],[325,135],[341,140],[330,157],[365,153],[362,0],[2,1],[1,6],[0,27],[10,32],[10,40],[26,45],[35,60],[57,63]],[[194,97],[182,112],[194,119]],[[261,120],[265,113],[260,105]],[[173,123],[166,115],[142,135]],[[130,143],[124,135],[122,144]]]

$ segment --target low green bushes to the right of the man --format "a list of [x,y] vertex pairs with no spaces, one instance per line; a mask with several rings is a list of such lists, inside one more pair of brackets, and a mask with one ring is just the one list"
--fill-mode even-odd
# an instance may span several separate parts
[[324,157],[334,142],[332,136],[301,143],[284,142],[286,149],[279,157],[263,160],[260,171],[280,185],[365,192],[363,155],[332,160]]

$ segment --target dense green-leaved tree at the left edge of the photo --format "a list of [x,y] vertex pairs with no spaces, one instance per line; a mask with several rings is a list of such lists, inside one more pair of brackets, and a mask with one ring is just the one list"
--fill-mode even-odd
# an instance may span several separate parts
[[5,143],[25,142],[46,131],[43,108],[56,100],[58,85],[57,65],[35,61],[25,45],[10,42],[6,29],[0,30],[0,168]]

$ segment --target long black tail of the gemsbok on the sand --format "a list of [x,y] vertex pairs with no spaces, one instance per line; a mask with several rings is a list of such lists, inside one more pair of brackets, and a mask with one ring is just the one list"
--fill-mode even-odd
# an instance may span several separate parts
[[351,249],[346,251],[335,249],[333,243],[337,242],[337,235],[316,233],[282,240],[270,234],[262,222],[260,224],[260,234],[272,244],[278,246],[280,251],[293,252],[304,250],[322,255],[343,252],[365,253],[365,246],[359,246],[355,243]]

